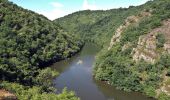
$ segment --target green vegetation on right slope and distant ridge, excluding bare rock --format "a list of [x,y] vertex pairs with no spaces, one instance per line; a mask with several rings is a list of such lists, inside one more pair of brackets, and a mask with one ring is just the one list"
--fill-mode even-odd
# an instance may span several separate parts
[[[130,25],[123,31],[120,42],[108,51],[110,39],[116,29],[124,24],[128,16],[140,16],[141,11],[150,12],[151,16],[142,18],[137,24]],[[169,12],[169,0],[154,0],[128,9],[81,11],[57,19],[55,23],[70,33],[80,34],[83,39],[103,46],[97,55],[94,67],[94,77],[97,80],[106,81],[118,89],[138,91],[149,97],[156,97],[156,90],[160,88],[163,80],[161,77],[163,70],[170,69],[169,56],[162,55],[154,64],[150,64],[145,61],[133,61],[131,53],[138,45],[139,37],[160,27],[164,20],[170,18]],[[162,48],[165,43],[164,35],[158,34],[156,39],[158,40],[157,48]],[[122,50],[126,44],[130,46]],[[168,100],[168,98],[169,96],[162,93],[158,97],[160,100]]]

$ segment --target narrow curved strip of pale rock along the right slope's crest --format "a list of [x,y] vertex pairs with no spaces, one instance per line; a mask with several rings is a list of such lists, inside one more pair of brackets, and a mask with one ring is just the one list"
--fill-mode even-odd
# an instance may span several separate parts
[[120,41],[121,38],[121,34],[122,32],[129,27],[131,24],[135,24],[138,23],[140,21],[141,18],[143,17],[147,17],[147,16],[151,16],[150,12],[141,12],[139,15],[137,16],[129,16],[127,17],[127,19],[125,20],[125,23],[123,25],[121,25],[115,32],[115,34],[113,35],[111,42],[110,42],[110,46],[108,48],[108,50],[110,50],[113,45],[115,45],[117,42]]

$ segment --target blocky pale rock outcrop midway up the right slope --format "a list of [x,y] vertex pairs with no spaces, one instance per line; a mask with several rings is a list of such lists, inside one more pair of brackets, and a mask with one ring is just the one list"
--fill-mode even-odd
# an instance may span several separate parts
[[156,36],[153,34],[141,36],[137,48],[133,49],[133,60],[138,61],[143,59],[144,61],[154,63],[158,57],[156,53],[156,42]]

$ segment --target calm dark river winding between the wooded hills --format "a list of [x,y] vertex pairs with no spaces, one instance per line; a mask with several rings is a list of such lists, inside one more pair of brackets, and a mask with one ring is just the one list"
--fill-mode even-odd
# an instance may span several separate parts
[[113,86],[96,81],[92,76],[92,66],[98,51],[96,45],[86,44],[74,57],[52,65],[60,72],[54,80],[58,92],[67,87],[75,91],[81,100],[153,100],[141,93],[116,90]]

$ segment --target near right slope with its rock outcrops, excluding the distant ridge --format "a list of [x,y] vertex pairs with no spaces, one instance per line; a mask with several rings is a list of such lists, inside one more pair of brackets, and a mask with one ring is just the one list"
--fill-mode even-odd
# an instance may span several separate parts
[[151,16],[118,27],[110,47],[97,56],[94,76],[118,89],[169,100],[170,1],[154,0],[144,6]]

